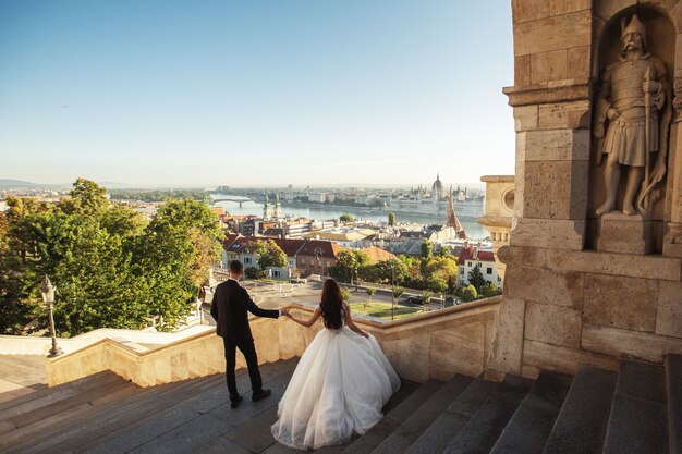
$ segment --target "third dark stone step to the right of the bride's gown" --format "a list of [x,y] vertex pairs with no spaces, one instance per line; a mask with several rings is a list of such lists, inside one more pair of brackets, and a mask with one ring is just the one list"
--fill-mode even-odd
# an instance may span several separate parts
[[410,446],[407,454],[442,453],[497,388],[496,382],[476,379]]

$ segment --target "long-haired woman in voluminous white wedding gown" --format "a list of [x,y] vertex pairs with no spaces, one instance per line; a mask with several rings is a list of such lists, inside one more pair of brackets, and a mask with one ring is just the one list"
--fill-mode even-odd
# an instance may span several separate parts
[[333,279],[322,285],[321,303],[304,327],[322,317],[322,329],[301,357],[279,403],[272,437],[299,450],[340,444],[381,419],[381,408],[400,379],[377,340],[353,323]]

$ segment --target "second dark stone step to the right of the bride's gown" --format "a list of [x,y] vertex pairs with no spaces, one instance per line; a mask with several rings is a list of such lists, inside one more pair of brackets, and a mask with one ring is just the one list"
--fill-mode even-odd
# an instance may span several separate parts
[[379,444],[373,454],[401,454],[468,388],[474,380],[455,375],[406,418],[393,433]]

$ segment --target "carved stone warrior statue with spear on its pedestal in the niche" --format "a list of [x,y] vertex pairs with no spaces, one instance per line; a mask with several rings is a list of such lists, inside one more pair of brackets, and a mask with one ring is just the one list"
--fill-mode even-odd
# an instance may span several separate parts
[[658,29],[661,22],[669,24],[653,11],[624,11],[601,38],[607,42],[599,47],[590,171],[598,250],[650,254],[658,248],[673,106],[670,50],[674,51],[674,33],[671,45],[668,28]]

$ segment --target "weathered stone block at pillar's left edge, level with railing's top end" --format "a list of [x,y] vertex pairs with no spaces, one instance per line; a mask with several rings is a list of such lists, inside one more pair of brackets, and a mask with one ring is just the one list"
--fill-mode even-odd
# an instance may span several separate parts
[[534,267],[510,266],[507,269],[504,292],[510,298],[581,309],[583,275],[577,272],[562,273]]

